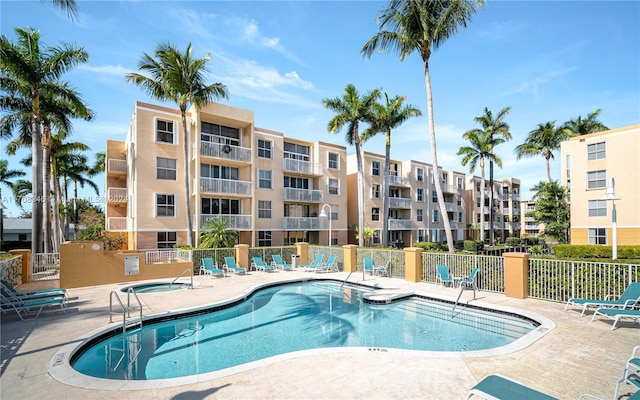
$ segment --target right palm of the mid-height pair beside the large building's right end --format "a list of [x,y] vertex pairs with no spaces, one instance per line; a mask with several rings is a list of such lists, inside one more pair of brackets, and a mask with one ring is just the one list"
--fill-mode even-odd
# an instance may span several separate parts
[[389,246],[389,175],[391,163],[391,129],[402,125],[411,117],[422,115],[422,112],[412,105],[403,105],[406,96],[396,96],[389,100],[389,95],[384,94],[385,104],[374,104],[373,120],[371,126],[365,130],[362,136],[367,140],[376,133],[384,132],[387,135],[384,158],[384,196],[382,219],[382,246]]

